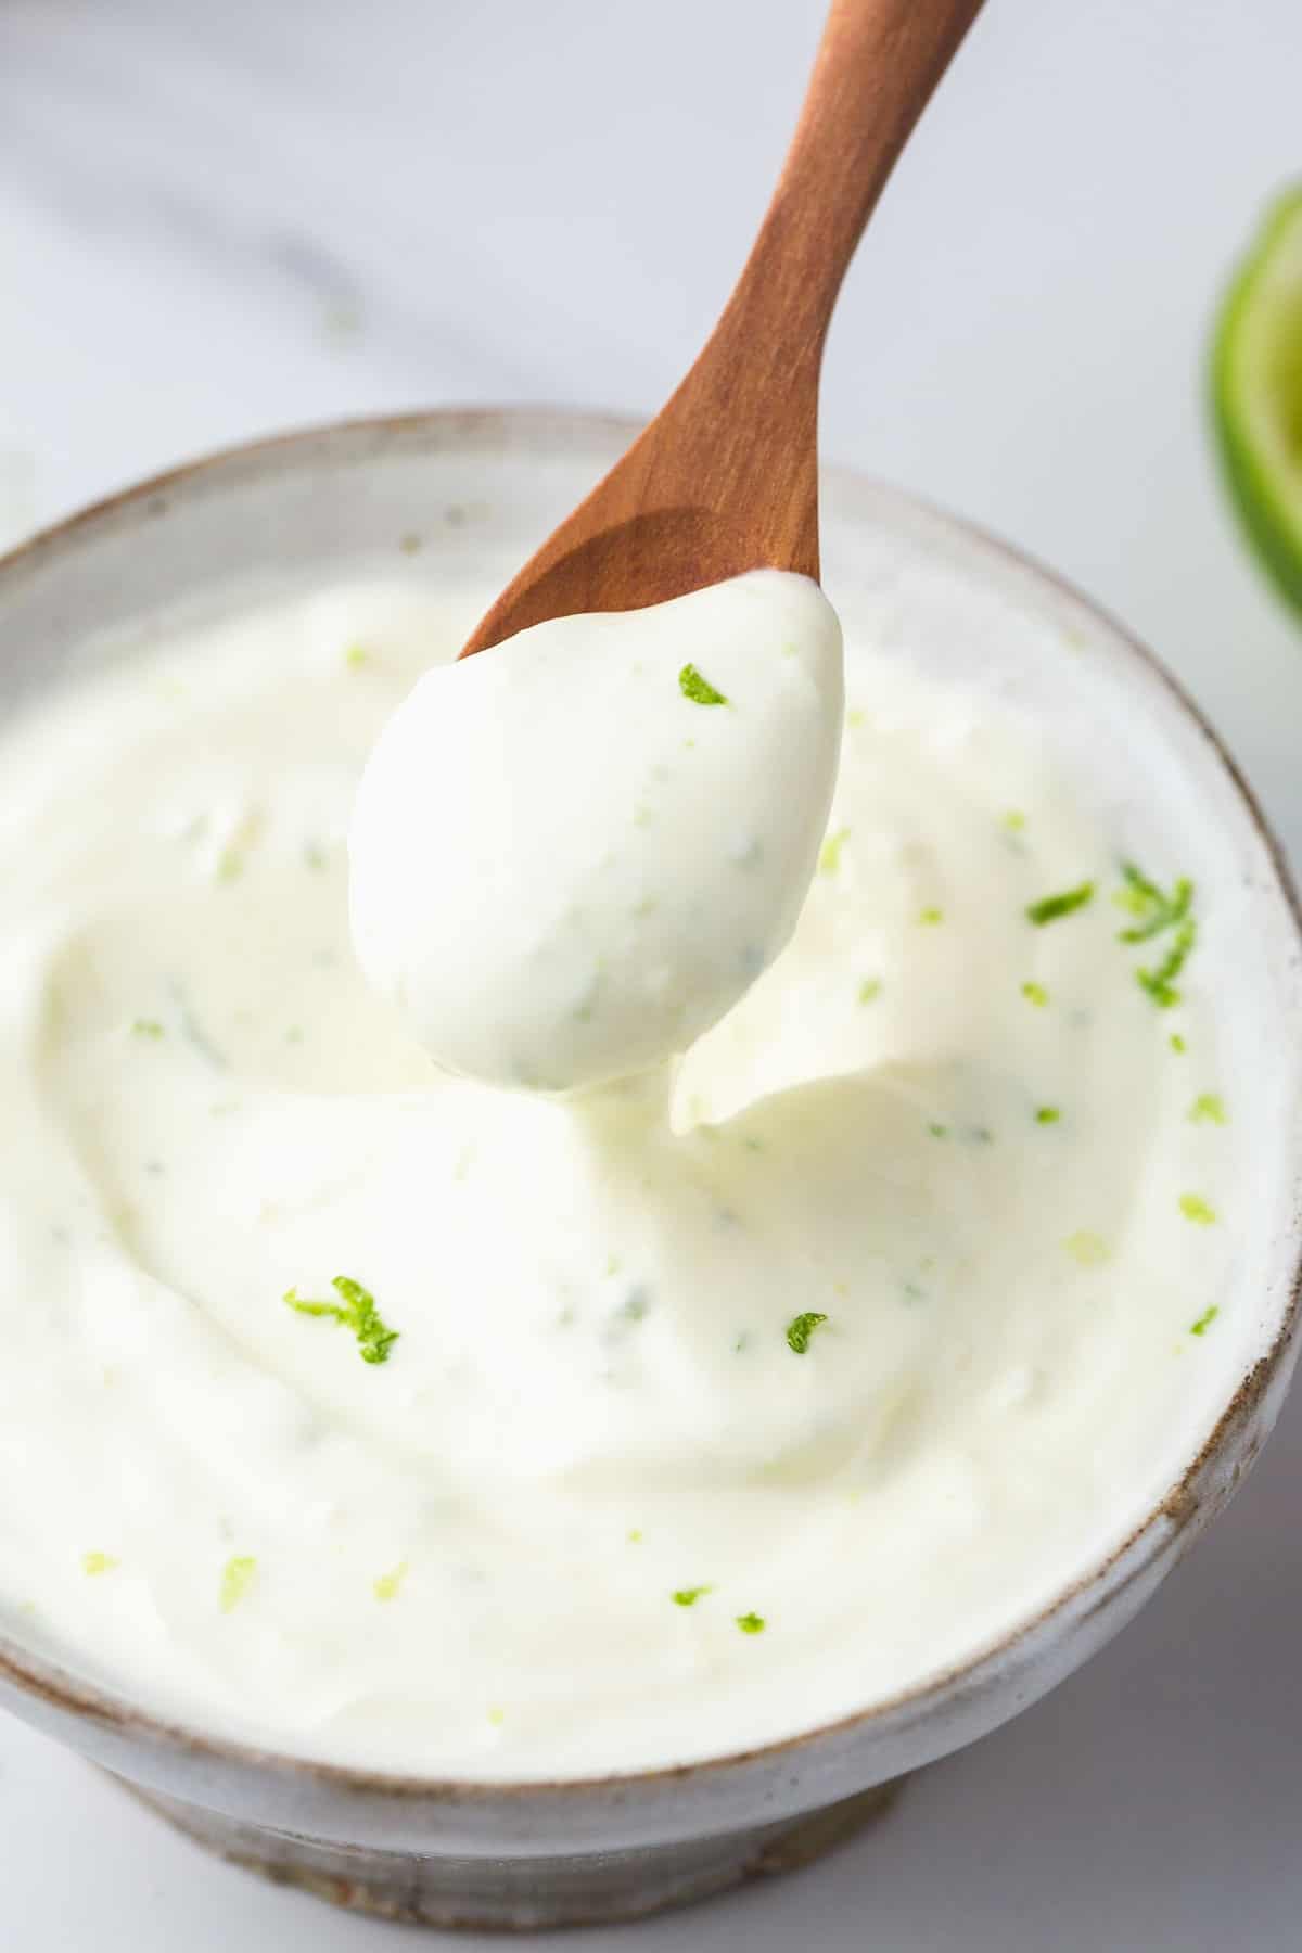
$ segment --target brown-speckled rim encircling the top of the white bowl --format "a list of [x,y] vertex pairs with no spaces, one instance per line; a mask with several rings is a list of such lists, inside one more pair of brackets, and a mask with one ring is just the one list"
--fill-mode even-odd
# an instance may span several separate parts
[[[468,451],[476,445],[488,451],[502,451],[504,447],[509,449],[515,443],[523,449],[533,447],[537,453],[547,453],[549,449],[552,453],[564,449],[582,453],[593,443],[609,443],[611,437],[627,443],[640,432],[644,420],[638,416],[605,412],[599,408],[502,402],[476,406],[431,406],[400,414],[365,414],[291,428],[252,441],[238,441],[226,447],[211,449],[191,461],[183,461],[158,475],[144,477],[139,482],[131,482],[125,488],[76,508],[62,519],[37,529],[14,549],[0,553],[0,586],[8,584],[10,576],[16,572],[21,574],[27,568],[37,568],[45,559],[57,557],[64,549],[76,549],[84,539],[92,541],[98,531],[117,527],[123,518],[150,519],[166,516],[172,494],[189,494],[191,490],[207,486],[215,486],[217,490],[224,486],[238,492],[246,480],[264,478],[269,473],[277,473],[281,467],[312,467],[328,455],[357,465],[365,463],[369,457],[381,457],[406,445],[410,445],[414,453],[437,453],[441,449]],[[1158,654],[1144,644],[1142,639],[1120,623],[1105,605],[1097,603],[1083,590],[1079,590],[1079,586],[1076,586],[1070,578],[1048,568],[1029,551],[1007,543],[1001,535],[982,523],[951,514],[925,496],[880,482],[875,477],[845,465],[820,465],[820,480],[834,480],[839,492],[859,506],[865,506],[865,502],[876,502],[878,508],[892,508],[898,516],[912,516],[915,519],[921,518],[925,527],[947,531],[958,545],[976,545],[978,555],[999,559],[1005,566],[1011,564],[1021,570],[1031,584],[1038,584],[1056,600],[1066,600],[1085,611],[1122,652],[1132,670],[1138,670],[1148,682],[1158,680],[1183,717],[1202,734],[1202,740],[1210,750],[1212,764],[1226,775],[1240,810],[1247,816],[1249,826],[1255,830],[1273,875],[1271,900],[1279,908],[1281,922],[1288,926],[1294,953],[1302,961],[1302,902],[1298,900],[1298,889],[1294,885],[1284,850],[1271,830],[1253,789],[1243,777],[1243,771],[1226,750],[1226,744],[1216,728],[1189,697],[1179,680],[1173,678],[1173,674],[1165,668]],[[1019,1648],[1023,1648],[1023,1644],[1033,1642],[1042,1631],[1052,1629],[1060,1617],[1070,1617],[1074,1605],[1079,1603],[1095,1586],[1105,1584],[1109,1576],[1115,1576],[1119,1586],[1126,1586],[1132,1578],[1142,1576],[1150,1557],[1144,1557],[1134,1568],[1130,1566],[1130,1560],[1136,1555],[1136,1549],[1154,1535],[1156,1551],[1160,1549],[1160,1529],[1163,1521],[1173,1527],[1173,1533],[1179,1535],[1183,1543],[1191,1543],[1204,1529],[1226,1500],[1224,1496],[1220,1500],[1204,1496],[1199,1484],[1200,1478],[1216,1461],[1222,1445],[1234,1439],[1236,1428],[1251,1428],[1253,1414],[1271,1392],[1271,1387],[1279,1387],[1282,1394],[1282,1387],[1288,1381],[1290,1359],[1296,1353],[1292,1346],[1298,1340],[1298,1330],[1302,1328],[1302,1180],[1298,1184],[1298,1201],[1292,1219],[1292,1248],[1294,1260],[1288,1299],[1281,1310],[1279,1326],[1275,1328],[1269,1346],[1240,1375],[1232,1396],[1224,1402],[1220,1416],[1206,1434],[1197,1455],[1185,1465],[1179,1478],[1144,1514],[1144,1517],[1138,1519],[1124,1539],[1115,1543],[1111,1551],[1099,1558],[1091,1560],[1083,1572],[1062,1586],[1038,1611],[1019,1619],[1011,1629],[996,1635],[964,1660],[951,1664],[939,1674],[927,1676],[923,1682],[914,1683],[908,1689],[900,1689],[894,1695],[873,1701],[867,1707],[853,1709],[832,1721],[818,1723],[812,1728],[800,1728],[791,1736],[781,1736],[773,1742],[761,1742],[742,1750],[728,1750],[720,1756],[705,1756],[683,1764],[664,1764],[652,1769],[605,1771],[601,1775],[554,1779],[439,1777],[406,1771],[383,1771],[355,1764],[332,1764],[310,1756],[295,1756],[287,1750],[260,1748],[258,1744],[240,1738],[205,1732],[197,1723],[154,1715],[152,1711],[137,1705],[127,1693],[115,1691],[111,1685],[100,1687],[86,1682],[62,1668],[57,1660],[47,1660],[25,1648],[20,1650],[8,1637],[0,1637],[0,1682],[12,1685],[18,1693],[35,1697],[59,1713],[109,1728],[127,1740],[144,1740],[154,1748],[166,1748],[174,1754],[199,1758],[209,1764],[230,1766],[246,1773],[306,1781],[326,1791],[400,1803],[484,1805],[492,1801],[509,1801],[519,1807],[533,1799],[545,1799],[549,1805],[558,1801],[580,1803],[591,1799],[593,1795],[609,1793],[619,1793],[621,1799],[627,1799],[640,1791],[654,1793],[671,1789],[675,1783],[683,1783],[687,1779],[722,1777],[752,1766],[791,1762],[816,1744],[867,1734],[875,1724],[888,1723],[900,1713],[925,1713],[929,1707],[939,1707],[945,1697],[960,1685],[974,1687],[986,1674],[994,1672],[999,1662],[1013,1656]],[[1247,1447],[1245,1457],[1236,1465],[1230,1490],[1238,1490],[1241,1476],[1255,1461],[1257,1449],[1259,1443],[1251,1443]],[[1111,1594],[1105,1594],[1099,1605],[1105,1605],[1109,1598]]]

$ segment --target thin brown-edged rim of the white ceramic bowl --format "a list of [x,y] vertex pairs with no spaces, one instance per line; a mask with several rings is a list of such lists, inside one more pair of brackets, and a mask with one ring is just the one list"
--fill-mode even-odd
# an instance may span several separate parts
[[[632,439],[632,436],[642,428],[642,422],[629,414],[599,412],[593,408],[566,408],[566,406],[535,406],[527,402],[506,404],[506,406],[443,406],[426,408],[406,414],[375,414],[375,416],[355,416],[351,420],[318,422],[308,428],[291,430],[287,434],[265,436],[256,441],[240,441],[232,447],[215,449],[199,457],[197,461],[185,461],[180,467],[168,469],[162,475],[152,475],[142,482],[135,482],[131,488],[121,488],[115,494],[103,496],[98,502],[90,502],[86,508],[76,510],[62,521],[51,523],[45,529],[37,529],[35,535],[27,537],[16,549],[0,555],[0,578],[8,576],[10,570],[23,566],[25,562],[39,562],[51,551],[61,549],[64,543],[76,539],[84,529],[94,529],[105,518],[113,518],[131,510],[144,510],[146,514],[166,514],[166,500],[162,506],[148,510],[148,504],[160,496],[168,496],[172,490],[187,488],[195,480],[203,480],[215,471],[234,469],[238,463],[248,463],[254,473],[262,473],[262,467],[277,457],[293,459],[295,449],[310,449],[312,445],[326,445],[330,441],[344,441],[349,447],[365,447],[367,437],[379,439],[383,445],[388,441],[402,439],[404,436],[418,437],[422,434],[431,434],[437,430],[478,434],[482,432],[490,439],[484,445],[492,445],[492,436],[502,437],[509,434],[511,428],[535,434],[552,436],[617,436],[621,439]],[[582,439],[576,441],[582,445]],[[908,494],[902,488],[892,488],[886,482],[876,482],[855,469],[832,465],[822,471],[832,475],[851,488],[869,488],[873,492],[886,492],[898,504],[906,508],[919,510],[929,521],[941,523],[958,537],[966,541],[980,543],[986,551],[1001,557],[1005,562],[1013,562],[1023,568],[1031,578],[1040,584],[1048,584],[1060,596],[1066,596],[1072,603],[1078,603],[1087,611],[1097,623],[1117,639],[1120,646],[1130,654],[1130,658],[1142,666],[1150,678],[1158,678],[1175,703],[1183,709],[1185,717],[1199,728],[1206,744],[1210,746],[1216,762],[1230,779],[1236,795],[1247,812],[1257,838],[1263,842],[1267,857],[1271,861],[1275,883],[1282,898],[1284,912],[1292,922],[1294,949],[1302,959],[1302,904],[1298,902],[1298,891],[1288,869],[1284,850],[1273,834],[1253,789],[1247,785],[1243,773],[1240,771],[1236,760],[1224,746],[1224,740],[1214,730],[1214,727],[1204,719],[1200,709],[1183,689],[1183,686],[1167,672],[1161,660],[1134,637],[1126,625],[1119,623],[1107,609],[1085,596],[1076,584],[1056,570],[1044,568],[1027,551],[1005,543],[1003,537],[994,535],[980,523],[966,521],[964,518],[951,516],[947,510],[921,496]],[[1294,1219],[1302,1219],[1302,1187],[1298,1187],[1298,1213]],[[203,1734],[185,1723],[172,1723],[150,1715],[146,1709],[135,1707],[125,1697],[115,1697],[109,1691],[92,1687],[90,1683],[74,1680],[70,1674],[61,1670],[55,1662],[43,1662],[37,1656],[23,1654],[18,1660],[14,1654],[0,1648],[0,1680],[14,1683],[18,1689],[39,1697],[41,1701],[62,1709],[70,1715],[82,1717],[92,1723],[100,1723],[121,1730],[125,1734],[144,1734],[154,1742],[162,1742],[166,1748],[182,1750],[187,1754],[199,1754],[207,1758],[217,1758],[224,1764],[244,1767],[250,1771],[264,1771],[283,1777],[308,1777],[340,1791],[363,1793],[367,1797],[390,1797],[390,1799],[433,1799],[443,1803],[484,1803],[490,1799],[509,1797],[513,1801],[527,1801],[531,1797],[547,1797],[554,1801],[558,1797],[590,1797],[599,1791],[638,1791],[652,1787],[666,1787],[681,1781],[683,1777],[714,1775],[724,1771],[742,1769],[746,1766],[761,1764],[767,1760],[789,1758],[793,1752],[800,1752],[810,1744],[822,1742],[830,1736],[849,1736],[851,1732],[871,1726],[873,1723],[894,1715],[900,1709],[914,1709],[927,1703],[929,1697],[941,1697],[953,1689],[958,1682],[972,1682],[980,1672],[997,1662],[1001,1656],[1009,1654],[1019,1642],[1023,1642],[1037,1629],[1046,1627],[1058,1613],[1079,1600],[1089,1588],[1093,1588],[1111,1568],[1122,1560],[1128,1551],[1144,1539],[1154,1527],[1163,1519],[1173,1527],[1175,1533],[1189,1533],[1195,1537],[1202,1525],[1214,1516],[1224,1500],[1200,1500],[1197,1490],[1197,1478],[1210,1463],[1212,1455],[1220,1449],[1224,1435],[1236,1426],[1245,1422],[1257,1408],[1267,1392],[1267,1387],[1275,1379],[1292,1340],[1298,1332],[1298,1322],[1302,1318],[1302,1242],[1298,1244],[1298,1254],[1292,1269],[1292,1283],[1288,1291],[1288,1303],[1284,1307],[1279,1330],[1265,1350],[1263,1355],[1251,1363],[1245,1375],[1240,1379],[1234,1396],[1218,1416],[1216,1424],[1208,1432],[1206,1439],[1199,1447],[1197,1455],[1189,1461],[1177,1482],[1154,1504],[1154,1508],[1140,1519],[1138,1525],[1122,1539],[1111,1553],[1099,1558],[1083,1574],[1072,1580],[1054,1600],[1040,1607],[1038,1613],[1015,1627],[997,1635],[994,1641],[986,1642],[964,1662],[958,1662],[937,1676],[929,1676],[915,1687],[902,1689],[896,1695],[888,1695],[882,1701],[871,1703],[867,1709],[855,1709],[849,1715],[837,1717],[832,1723],[820,1723],[814,1728],[798,1730],[794,1736],[783,1736],[777,1742],[757,1744],[752,1750],[732,1750],[726,1756],[707,1756],[689,1764],[666,1764],[656,1769],[632,1769],[632,1771],[607,1771],[599,1777],[560,1777],[560,1779],[506,1779],[506,1777],[414,1777],[414,1775],[392,1775],[387,1771],[361,1769],[349,1764],[328,1764],[314,1758],[291,1756],[277,1750],[258,1750],[252,1744],[236,1742],[224,1736]],[[1243,1471],[1251,1467],[1257,1451],[1253,1449],[1245,1459]],[[1234,1488],[1241,1473],[1236,1476]],[[1212,1510],[1208,1510],[1208,1506]],[[1140,1568],[1142,1570],[1142,1568]],[[27,1666],[31,1664],[31,1666]]]

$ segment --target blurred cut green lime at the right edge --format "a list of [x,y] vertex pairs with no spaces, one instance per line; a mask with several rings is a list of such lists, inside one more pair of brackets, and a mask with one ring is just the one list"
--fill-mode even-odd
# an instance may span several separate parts
[[1302,184],[1271,207],[1226,293],[1212,416],[1247,537],[1302,613]]

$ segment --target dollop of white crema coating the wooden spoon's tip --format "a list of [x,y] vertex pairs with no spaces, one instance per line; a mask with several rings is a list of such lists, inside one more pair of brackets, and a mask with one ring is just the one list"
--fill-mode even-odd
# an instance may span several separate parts
[[486,1084],[576,1092],[685,1051],[796,926],[841,717],[835,611],[785,570],[431,670],[353,807],[367,978]]

